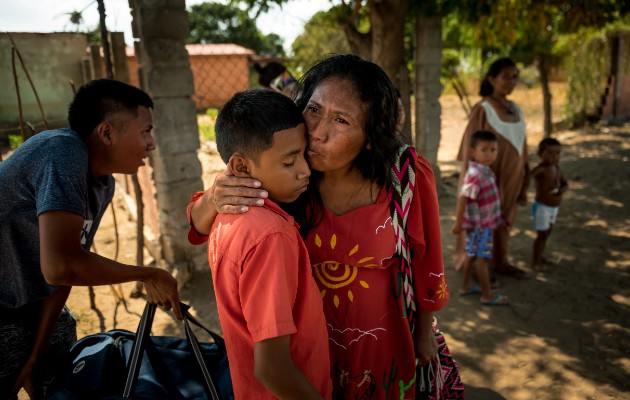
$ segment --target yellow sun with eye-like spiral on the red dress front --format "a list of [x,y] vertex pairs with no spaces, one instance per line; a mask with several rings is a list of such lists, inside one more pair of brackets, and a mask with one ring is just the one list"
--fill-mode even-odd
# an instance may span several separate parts
[[[317,247],[322,247],[322,239],[319,235],[315,235],[315,245]],[[330,249],[335,250],[337,247],[337,235],[333,234],[330,237]],[[348,252],[348,256],[352,256],[359,251],[359,245],[356,244],[350,251]],[[363,268],[375,268],[378,267],[377,264],[370,263],[370,261],[374,260],[374,257],[364,257],[356,262],[356,265],[350,264],[342,264],[338,261],[324,261],[322,263],[317,263],[313,265],[313,269],[315,271],[315,276],[317,279],[327,288],[336,290],[343,288],[344,286],[348,286],[350,283],[354,282],[359,272],[357,265],[361,265]],[[364,289],[369,289],[370,285],[364,281],[359,280],[359,285]],[[321,291],[322,299],[326,297],[327,290],[324,289]],[[354,301],[354,293],[352,290],[348,290],[347,292],[348,300],[350,302]],[[333,295],[333,304],[335,307],[339,308],[339,296],[337,294]]]

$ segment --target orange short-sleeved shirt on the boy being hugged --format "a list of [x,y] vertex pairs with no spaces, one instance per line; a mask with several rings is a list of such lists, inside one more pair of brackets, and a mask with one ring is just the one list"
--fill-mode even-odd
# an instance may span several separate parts
[[284,335],[293,363],[331,398],[322,300],[297,228],[267,199],[245,214],[220,214],[212,226],[208,261],[237,399],[275,398],[254,377],[254,343]]

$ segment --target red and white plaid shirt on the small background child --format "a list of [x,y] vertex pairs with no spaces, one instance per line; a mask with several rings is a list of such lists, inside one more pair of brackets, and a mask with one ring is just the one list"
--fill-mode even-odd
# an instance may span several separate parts
[[462,221],[464,229],[496,228],[501,222],[501,200],[494,172],[489,166],[468,162],[460,196],[468,199]]

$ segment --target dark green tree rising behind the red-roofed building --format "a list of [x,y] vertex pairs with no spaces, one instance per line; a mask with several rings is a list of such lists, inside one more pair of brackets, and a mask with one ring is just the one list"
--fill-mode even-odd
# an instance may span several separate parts
[[201,3],[188,11],[188,43],[235,43],[258,54],[284,56],[282,39],[263,35],[247,11],[220,3]]

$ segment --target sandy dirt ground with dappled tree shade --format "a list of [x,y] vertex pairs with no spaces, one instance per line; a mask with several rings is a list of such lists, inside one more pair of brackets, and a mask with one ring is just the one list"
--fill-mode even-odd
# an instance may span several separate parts
[[[556,85],[557,86],[557,85]],[[554,87],[556,115],[561,114],[562,88]],[[542,137],[539,89],[519,88],[513,99],[528,124],[532,164]],[[519,210],[510,243],[511,260],[530,273],[517,281],[499,276],[499,293],[509,307],[483,307],[474,296],[459,297],[461,275],[451,266],[457,163],[454,162],[465,114],[454,95],[442,104],[442,171],[440,209],[444,260],[451,300],[438,315],[448,345],[459,362],[469,400],[630,399],[630,125],[556,132],[563,143],[561,167],[569,192],[547,245],[557,267],[535,273],[529,268],[535,232],[528,209]],[[207,147],[206,147],[207,149]],[[200,152],[206,184],[222,168],[218,157]],[[530,191],[530,200],[533,192]],[[135,259],[135,225],[116,199],[121,238],[118,259]],[[113,256],[111,212],[97,234],[97,250]],[[87,288],[73,289],[68,305],[78,320],[78,334],[113,328],[136,329],[143,299],[130,299],[134,284],[123,285],[127,309],[110,287],[95,288],[90,308]],[[210,274],[195,275],[181,293],[194,314],[220,332]],[[158,335],[182,330],[158,311]]]

